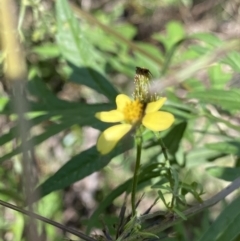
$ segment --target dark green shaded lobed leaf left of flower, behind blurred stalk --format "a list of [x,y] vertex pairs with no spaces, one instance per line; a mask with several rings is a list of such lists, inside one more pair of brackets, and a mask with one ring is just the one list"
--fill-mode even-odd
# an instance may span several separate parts
[[[37,97],[37,102],[29,102],[31,113],[43,112],[37,118],[30,118],[29,125],[40,124],[42,121],[57,117],[57,122],[52,121],[52,124],[45,128],[45,132],[38,136],[34,136],[30,140],[30,144],[38,145],[49,137],[78,124],[80,126],[92,126],[96,129],[103,130],[109,124],[100,122],[95,118],[96,112],[113,109],[111,104],[93,104],[68,102],[57,98],[46,85],[38,78],[34,78],[28,82],[29,92]],[[13,113],[11,101],[4,106],[3,112]],[[0,137],[0,144],[11,141],[17,137],[16,127],[13,127],[9,133]],[[30,145],[31,146],[31,145]],[[21,146],[16,147],[10,153],[0,157],[0,162],[3,162],[17,154],[21,153]]]

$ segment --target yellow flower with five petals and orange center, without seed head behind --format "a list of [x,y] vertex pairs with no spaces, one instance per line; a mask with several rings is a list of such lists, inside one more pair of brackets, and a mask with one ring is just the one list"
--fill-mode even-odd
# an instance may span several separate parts
[[165,101],[166,98],[160,98],[144,107],[139,100],[131,100],[124,94],[118,95],[116,110],[98,112],[95,115],[103,122],[121,122],[101,133],[97,141],[98,151],[103,155],[112,151],[119,140],[137,124],[142,124],[152,131],[168,129],[174,122],[174,116],[168,112],[158,111]]

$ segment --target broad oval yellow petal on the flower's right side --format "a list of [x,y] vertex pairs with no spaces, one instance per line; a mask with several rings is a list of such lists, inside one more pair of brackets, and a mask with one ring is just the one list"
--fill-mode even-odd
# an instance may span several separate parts
[[157,111],[146,114],[142,124],[152,131],[163,131],[168,129],[174,122],[174,116],[168,112]]

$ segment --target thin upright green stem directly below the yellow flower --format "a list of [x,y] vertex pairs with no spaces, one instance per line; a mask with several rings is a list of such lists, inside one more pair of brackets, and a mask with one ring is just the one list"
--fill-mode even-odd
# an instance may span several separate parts
[[137,157],[136,157],[136,165],[133,175],[133,183],[132,183],[132,216],[134,217],[136,214],[136,189],[138,182],[138,171],[140,168],[141,162],[141,152],[142,152],[142,138],[137,137]]

